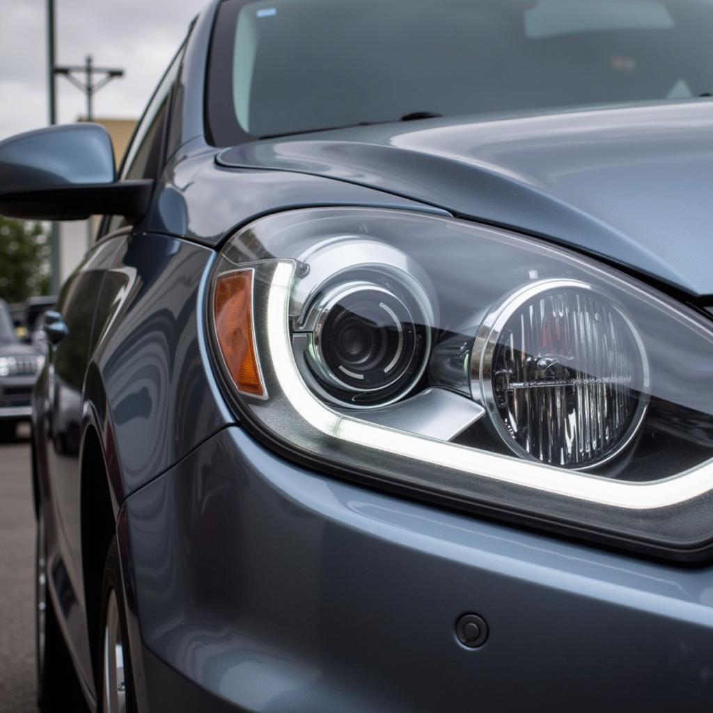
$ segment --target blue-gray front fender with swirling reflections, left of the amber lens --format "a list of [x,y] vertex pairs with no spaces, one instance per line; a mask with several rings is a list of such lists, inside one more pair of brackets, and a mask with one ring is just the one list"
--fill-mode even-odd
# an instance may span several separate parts
[[200,345],[212,257],[165,235],[131,236],[106,271],[102,300],[112,313],[92,364],[116,449],[117,503],[233,421]]

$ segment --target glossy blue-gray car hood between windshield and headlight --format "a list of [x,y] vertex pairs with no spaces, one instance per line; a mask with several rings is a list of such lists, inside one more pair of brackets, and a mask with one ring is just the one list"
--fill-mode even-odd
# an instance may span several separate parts
[[377,188],[713,295],[711,101],[362,126],[217,162]]

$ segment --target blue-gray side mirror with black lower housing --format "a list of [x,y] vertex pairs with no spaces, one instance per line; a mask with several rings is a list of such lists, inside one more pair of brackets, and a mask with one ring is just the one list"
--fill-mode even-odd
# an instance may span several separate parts
[[52,126],[0,141],[0,215],[138,218],[152,188],[151,180],[116,180],[111,138],[98,124]]

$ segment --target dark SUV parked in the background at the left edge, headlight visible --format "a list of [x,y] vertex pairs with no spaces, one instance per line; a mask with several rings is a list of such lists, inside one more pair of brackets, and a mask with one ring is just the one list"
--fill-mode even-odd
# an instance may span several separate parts
[[0,299],[0,441],[15,437],[17,424],[32,415],[31,394],[44,356],[22,344],[7,304]]

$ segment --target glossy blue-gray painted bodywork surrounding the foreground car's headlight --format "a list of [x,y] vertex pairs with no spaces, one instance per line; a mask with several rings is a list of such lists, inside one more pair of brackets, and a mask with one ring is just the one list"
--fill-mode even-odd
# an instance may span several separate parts
[[[34,394],[50,594],[88,701],[94,632],[62,524],[81,441],[59,454],[73,476],[49,467],[70,416],[101,440],[140,712],[709,709],[710,567],[528,534],[287,463],[227,427],[202,309],[213,248],[258,215],[311,205],[461,213],[713,294],[710,103],[344,130],[228,150],[219,165],[203,116],[217,4],[190,34],[152,205],[101,244],[111,260],[83,382],[58,408],[48,363]],[[481,650],[456,643],[468,611],[491,626]]]

